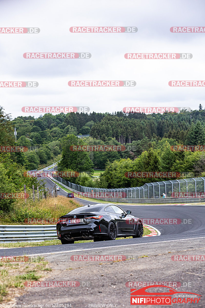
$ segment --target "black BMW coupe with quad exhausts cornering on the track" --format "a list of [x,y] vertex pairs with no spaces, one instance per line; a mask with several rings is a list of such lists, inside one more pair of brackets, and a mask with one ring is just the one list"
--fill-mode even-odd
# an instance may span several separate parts
[[111,203],[85,205],[59,218],[56,229],[62,244],[74,241],[109,241],[116,237],[142,237],[143,224],[131,211]]

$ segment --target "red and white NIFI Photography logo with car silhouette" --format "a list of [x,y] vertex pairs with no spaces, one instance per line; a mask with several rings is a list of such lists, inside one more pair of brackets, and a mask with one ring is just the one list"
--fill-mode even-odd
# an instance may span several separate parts
[[[156,291],[158,288],[158,291]],[[159,290],[159,288],[161,290]],[[162,291],[163,289],[163,291]],[[191,292],[176,291],[167,286],[146,286],[141,289],[130,289],[131,305],[171,305],[191,303],[198,304],[201,295]],[[173,295],[173,298],[172,298]],[[200,298],[198,298],[200,296]]]

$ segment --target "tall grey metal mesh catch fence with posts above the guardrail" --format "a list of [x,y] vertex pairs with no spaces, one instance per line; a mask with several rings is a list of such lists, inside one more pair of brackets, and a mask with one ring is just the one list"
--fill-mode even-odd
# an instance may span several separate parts
[[[73,184],[61,177],[55,177],[58,183],[65,185],[72,191],[85,193],[96,199],[123,198],[123,199],[160,199],[165,193],[167,198],[175,199],[188,197],[202,198],[205,195],[205,177],[188,178],[180,180],[168,180],[154,183],[146,183],[141,187],[130,188],[93,188]],[[164,198],[163,198],[164,199]],[[165,200],[164,200],[165,201]]]

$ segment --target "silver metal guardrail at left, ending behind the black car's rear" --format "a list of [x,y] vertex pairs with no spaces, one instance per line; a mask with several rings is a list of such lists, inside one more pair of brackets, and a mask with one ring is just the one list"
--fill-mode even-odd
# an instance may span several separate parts
[[56,225],[0,225],[0,243],[57,239]]

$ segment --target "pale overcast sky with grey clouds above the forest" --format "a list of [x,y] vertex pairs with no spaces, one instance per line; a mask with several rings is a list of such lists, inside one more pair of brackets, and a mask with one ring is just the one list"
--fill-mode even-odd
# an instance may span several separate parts
[[[38,34],[0,34],[0,81],[37,81],[37,88],[0,87],[12,118],[23,106],[123,107],[204,105],[204,87],[170,87],[170,80],[205,80],[205,33],[171,33],[203,26],[204,1],[0,0],[0,27],[38,27]],[[136,33],[71,33],[72,26],[136,26]],[[25,52],[89,52],[90,59],[24,59]],[[192,59],[128,60],[125,53],[191,53]],[[69,87],[69,80],[135,80],[135,87]]]

